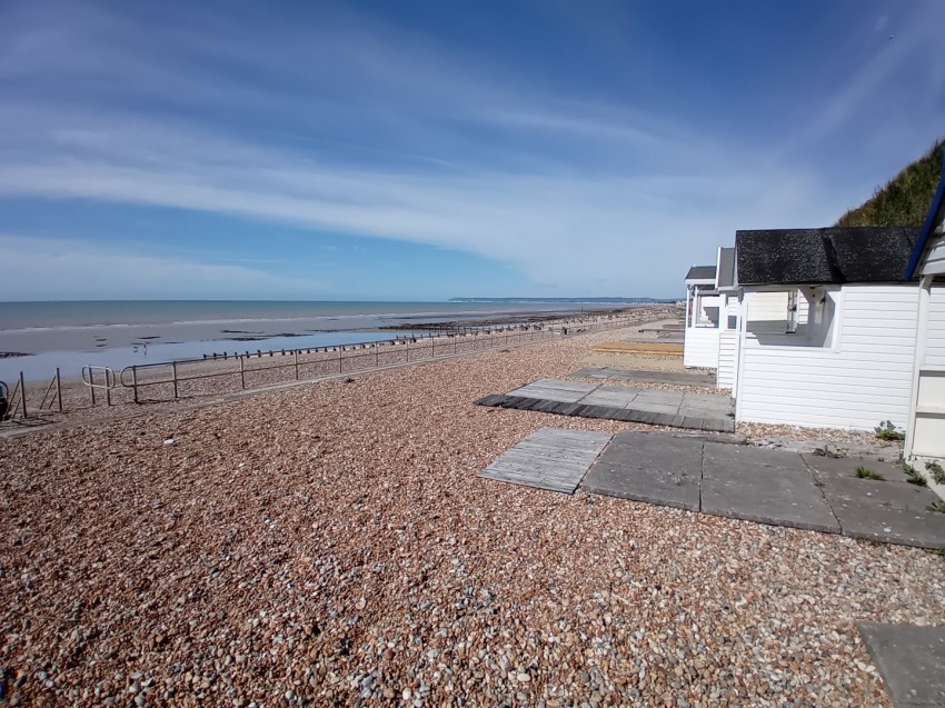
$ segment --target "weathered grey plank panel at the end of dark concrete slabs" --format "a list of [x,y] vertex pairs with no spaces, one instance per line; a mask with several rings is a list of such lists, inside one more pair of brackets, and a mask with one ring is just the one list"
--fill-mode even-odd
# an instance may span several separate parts
[[609,432],[540,428],[479,475],[573,495],[610,438]]

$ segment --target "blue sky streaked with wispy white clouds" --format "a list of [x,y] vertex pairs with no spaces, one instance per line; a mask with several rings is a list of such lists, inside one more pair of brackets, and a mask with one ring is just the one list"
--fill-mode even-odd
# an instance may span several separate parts
[[678,297],[945,134],[945,2],[0,2],[0,300]]

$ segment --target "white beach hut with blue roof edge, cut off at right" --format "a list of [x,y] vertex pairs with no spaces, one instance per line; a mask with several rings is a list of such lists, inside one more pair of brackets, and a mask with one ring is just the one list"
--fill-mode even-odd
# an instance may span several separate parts
[[[926,465],[932,462],[945,467],[945,170],[903,277],[919,279],[912,396],[903,453],[906,460],[926,471]],[[939,493],[945,490],[941,485],[933,487]]]

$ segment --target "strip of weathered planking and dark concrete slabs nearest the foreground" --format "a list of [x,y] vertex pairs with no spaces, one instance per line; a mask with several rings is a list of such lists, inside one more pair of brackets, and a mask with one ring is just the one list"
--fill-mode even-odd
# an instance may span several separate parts
[[[861,466],[885,480],[859,479]],[[938,497],[908,483],[901,468],[885,462],[705,437],[626,431],[611,439],[609,433],[543,428],[483,475],[565,493],[579,485],[594,493],[733,519],[945,547],[945,513],[928,510]]]

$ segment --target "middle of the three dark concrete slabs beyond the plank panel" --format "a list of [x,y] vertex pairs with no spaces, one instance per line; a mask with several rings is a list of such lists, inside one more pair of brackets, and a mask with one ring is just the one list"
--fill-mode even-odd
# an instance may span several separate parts
[[[709,443],[706,443],[709,447]],[[732,450],[742,448],[725,446]],[[775,526],[839,534],[840,526],[806,469],[759,465],[703,468],[702,510]]]

